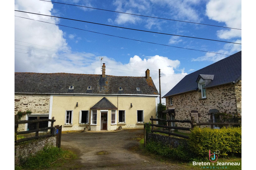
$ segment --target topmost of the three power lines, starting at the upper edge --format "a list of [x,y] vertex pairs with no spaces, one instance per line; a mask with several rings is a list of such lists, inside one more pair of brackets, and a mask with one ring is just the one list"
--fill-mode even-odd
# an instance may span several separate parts
[[201,25],[205,25],[205,26],[213,26],[213,27],[222,27],[222,28],[229,28],[229,29],[238,29],[238,30],[242,30],[242,29],[239,29],[239,28],[231,28],[231,27],[224,27],[224,26],[216,26],[216,25],[203,24],[203,23],[198,23],[198,22],[181,21],[181,20],[176,20],[176,19],[159,18],[159,17],[154,17],[154,16],[146,16],[146,15],[139,15],[139,14],[132,14],[132,13],[124,13],[124,12],[119,12],[119,11],[104,10],[104,9],[100,9],[100,8],[92,8],[92,7],[89,7],[89,6],[73,5],[73,4],[69,4],[69,3],[60,3],[60,2],[53,2],[53,1],[46,1],[46,0],[40,0],[40,1],[52,2],[52,3],[59,3],[59,4],[63,4],[63,5],[79,6],[79,7],[90,8],[90,9],[94,9],[94,10],[102,10],[102,11],[109,11],[109,12],[115,12],[115,13],[122,13],[122,14],[143,16],[143,17],[148,17],[148,18],[165,19],[165,20],[170,20],[170,21],[187,22],[187,23],[191,23],[191,24],[201,24]]

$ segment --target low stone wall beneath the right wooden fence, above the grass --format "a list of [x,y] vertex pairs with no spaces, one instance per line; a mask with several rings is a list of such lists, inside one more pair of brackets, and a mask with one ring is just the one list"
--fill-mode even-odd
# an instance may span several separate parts
[[170,148],[177,148],[179,144],[186,144],[186,139],[175,138],[165,135],[160,135],[156,133],[147,133],[147,141],[146,142],[160,142],[163,145],[167,145]]

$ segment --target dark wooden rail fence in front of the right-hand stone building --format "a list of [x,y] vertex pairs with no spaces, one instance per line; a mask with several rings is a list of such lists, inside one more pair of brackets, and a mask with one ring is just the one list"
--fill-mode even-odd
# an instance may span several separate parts
[[[171,132],[171,129],[177,129],[177,130],[186,130],[186,131],[190,131],[191,129],[193,129],[195,126],[200,126],[200,125],[224,125],[224,126],[229,126],[229,125],[241,125],[240,123],[234,123],[234,122],[222,122],[222,123],[213,123],[213,122],[203,122],[203,123],[194,123],[194,117],[191,117],[191,120],[169,120],[169,116],[167,116],[167,120],[165,119],[153,119],[153,116],[151,116],[151,132],[159,132],[159,133],[165,133],[173,136],[178,136],[181,138],[185,138],[185,139],[189,139],[189,136],[186,135],[181,135],[178,133],[173,133]],[[165,125],[157,125],[154,124],[153,121],[160,121],[160,122],[166,122],[168,123],[168,126]],[[190,123],[191,128],[188,127],[176,127],[176,126],[171,126],[170,123],[171,122],[178,122],[178,123]],[[163,131],[163,130],[154,130],[154,127],[162,127],[162,128],[168,128],[168,132]]]

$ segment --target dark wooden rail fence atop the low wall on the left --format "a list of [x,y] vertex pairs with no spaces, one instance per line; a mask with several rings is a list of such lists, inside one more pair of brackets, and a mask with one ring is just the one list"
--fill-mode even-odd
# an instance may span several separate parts
[[[55,122],[55,121],[56,120],[54,120],[54,117],[52,117],[52,119],[40,119],[39,116],[37,117],[36,120],[18,120],[18,115],[15,115],[15,133],[16,133],[16,135],[15,135],[15,143],[21,143],[21,142],[24,142],[24,141],[29,141],[29,140],[34,140],[34,139],[54,136],[55,135],[55,127],[53,127],[53,122]],[[51,123],[50,127],[39,128],[39,123],[40,122],[52,122],[52,123]],[[23,123],[36,123],[36,129],[18,132],[19,124],[23,124]],[[39,136],[39,131],[49,130],[49,129],[51,130],[49,134],[47,134],[47,135],[40,135]],[[17,135],[34,133],[34,132],[36,132],[35,136],[17,140]]]

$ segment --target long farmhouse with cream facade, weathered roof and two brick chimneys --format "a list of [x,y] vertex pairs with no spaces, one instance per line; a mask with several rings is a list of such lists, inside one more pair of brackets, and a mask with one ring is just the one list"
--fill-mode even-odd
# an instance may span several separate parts
[[[15,114],[23,119],[55,117],[62,130],[143,128],[156,115],[159,93],[150,77],[68,73],[15,73]],[[43,125],[42,125],[43,126]],[[28,127],[29,128],[29,127]]]

